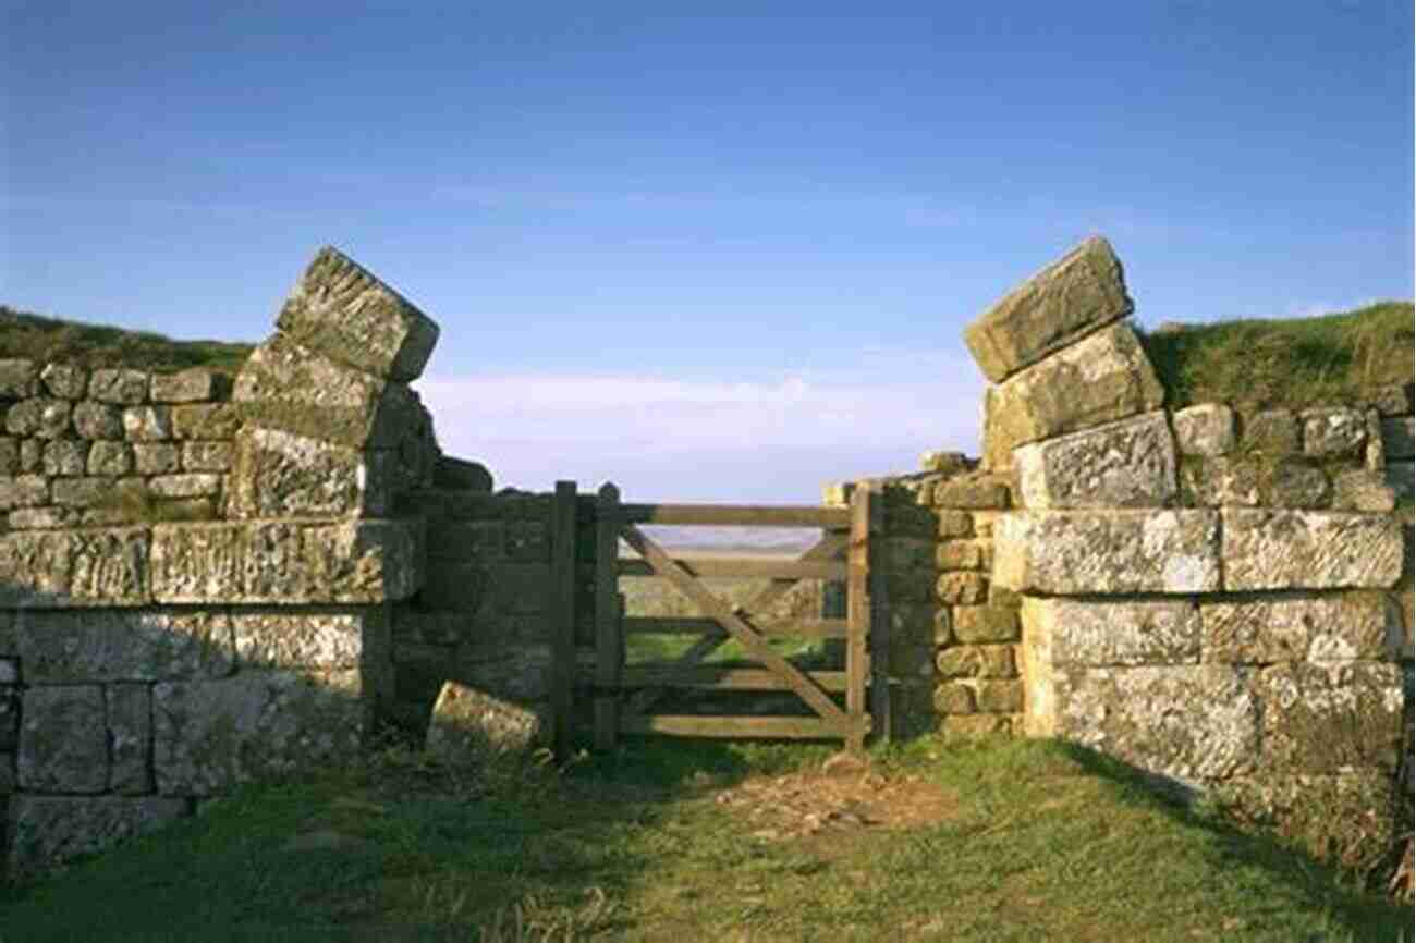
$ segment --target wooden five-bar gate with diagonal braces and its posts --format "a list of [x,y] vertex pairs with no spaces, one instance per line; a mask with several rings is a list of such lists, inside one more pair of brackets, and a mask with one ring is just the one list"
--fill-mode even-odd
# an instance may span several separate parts
[[[602,487],[592,503],[576,497],[573,483],[558,483],[552,525],[556,753],[569,753],[578,729],[593,736],[596,749],[613,748],[620,735],[677,735],[840,738],[847,749],[860,750],[872,729],[885,735],[889,728],[886,664],[882,654],[872,657],[872,653],[888,651],[885,586],[878,569],[872,578],[869,552],[871,534],[882,530],[881,497],[878,490],[857,488],[848,508],[622,504],[613,484]],[[593,544],[593,593],[576,592],[576,573],[585,572],[576,562],[578,524],[581,558],[588,555],[583,545]],[[796,559],[674,558],[644,534],[640,524],[820,527],[824,537]],[[639,559],[620,556],[622,539]],[[619,583],[623,576],[667,581],[692,602],[698,615],[626,616]],[[770,582],[750,602],[733,606],[702,582],[724,576]],[[801,579],[844,581],[845,617],[767,619],[763,613]],[[583,612],[588,599],[593,599],[593,612]],[[626,637],[644,633],[691,633],[698,639],[674,660],[629,664]],[[844,670],[794,664],[769,641],[782,636],[844,640]],[[593,647],[585,644],[592,640]],[[707,661],[729,640],[746,653],[748,665]],[[675,690],[789,691],[810,708],[811,716],[656,712],[656,705]],[[579,704],[589,711],[575,709],[576,692],[582,694]]]

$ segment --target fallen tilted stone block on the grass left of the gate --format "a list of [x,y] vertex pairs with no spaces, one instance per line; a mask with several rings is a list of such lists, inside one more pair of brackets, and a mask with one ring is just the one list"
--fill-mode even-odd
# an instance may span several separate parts
[[523,750],[545,738],[547,709],[528,709],[447,681],[428,724],[428,752],[453,760]]

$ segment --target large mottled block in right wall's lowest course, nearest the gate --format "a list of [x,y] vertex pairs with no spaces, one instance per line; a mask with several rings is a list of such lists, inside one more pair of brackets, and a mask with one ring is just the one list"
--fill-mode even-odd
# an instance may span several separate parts
[[1194,786],[1249,772],[1259,753],[1259,699],[1239,668],[1078,668],[1054,675],[1051,725],[1061,736],[1148,773]]

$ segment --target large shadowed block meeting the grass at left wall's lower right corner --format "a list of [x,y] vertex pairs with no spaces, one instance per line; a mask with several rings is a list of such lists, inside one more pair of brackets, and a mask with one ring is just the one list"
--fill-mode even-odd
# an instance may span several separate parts
[[242,671],[153,687],[154,767],[164,796],[211,796],[350,756],[372,705],[357,668]]

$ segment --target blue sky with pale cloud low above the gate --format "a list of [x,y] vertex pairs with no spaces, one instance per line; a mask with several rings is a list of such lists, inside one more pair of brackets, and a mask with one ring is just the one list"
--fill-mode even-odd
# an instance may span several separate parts
[[498,484],[814,501],[977,452],[960,331],[1412,296],[1409,0],[6,3],[0,302],[263,338],[323,244]]

